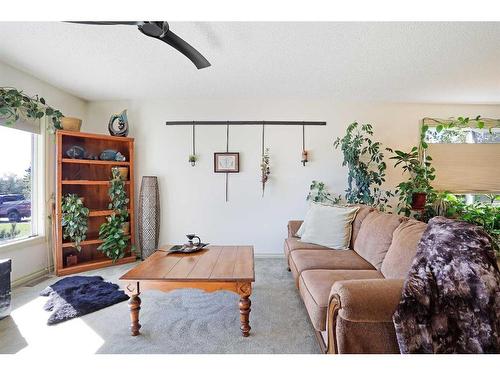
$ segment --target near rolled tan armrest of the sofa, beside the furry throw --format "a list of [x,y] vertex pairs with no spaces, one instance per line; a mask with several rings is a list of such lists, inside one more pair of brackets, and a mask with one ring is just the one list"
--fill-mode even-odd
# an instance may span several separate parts
[[337,305],[339,317],[351,322],[392,322],[403,284],[403,279],[337,281],[330,291],[330,303]]

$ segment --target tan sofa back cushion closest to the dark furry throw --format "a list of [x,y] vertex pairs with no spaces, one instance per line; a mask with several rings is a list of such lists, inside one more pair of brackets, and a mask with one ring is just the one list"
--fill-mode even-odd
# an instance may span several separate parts
[[381,272],[389,279],[404,279],[417,253],[417,245],[427,224],[410,219],[401,223],[392,235],[392,243],[382,262]]

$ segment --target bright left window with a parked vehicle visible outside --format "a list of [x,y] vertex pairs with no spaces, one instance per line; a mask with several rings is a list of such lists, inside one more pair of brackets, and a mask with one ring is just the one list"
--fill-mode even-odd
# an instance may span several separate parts
[[37,231],[37,142],[40,136],[0,126],[0,245]]

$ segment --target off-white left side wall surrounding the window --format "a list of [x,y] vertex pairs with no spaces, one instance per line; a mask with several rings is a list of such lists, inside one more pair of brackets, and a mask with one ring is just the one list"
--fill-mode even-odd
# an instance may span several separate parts
[[[38,94],[44,97],[49,105],[61,110],[63,114],[82,118],[85,122],[86,101],[1,62],[0,86],[15,87],[29,95]],[[48,145],[49,150],[52,147],[53,145]],[[8,161],[1,160],[0,162],[5,163]],[[49,179],[52,180],[54,176],[54,160],[52,158],[46,160],[46,167],[49,169]],[[47,196],[50,196],[53,192],[53,184],[50,184],[47,190]],[[12,280],[16,281],[47,267],[47,243],[38,241],[36,244],[26,246],[3,246],[0,247],[0,258],[12,259]]]

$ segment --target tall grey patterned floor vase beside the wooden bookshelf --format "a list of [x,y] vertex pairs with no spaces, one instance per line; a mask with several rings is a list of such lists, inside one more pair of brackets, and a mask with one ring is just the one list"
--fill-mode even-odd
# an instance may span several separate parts
[[160,191],[156,176],[143,176],[139,192],[138,239],[142,259],[158,249],[160,238]]

